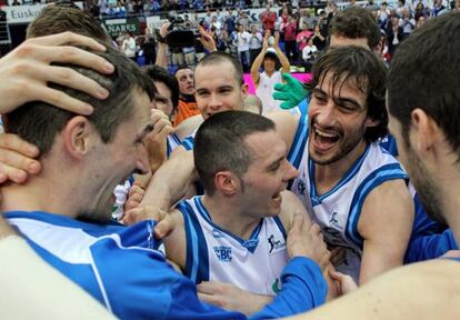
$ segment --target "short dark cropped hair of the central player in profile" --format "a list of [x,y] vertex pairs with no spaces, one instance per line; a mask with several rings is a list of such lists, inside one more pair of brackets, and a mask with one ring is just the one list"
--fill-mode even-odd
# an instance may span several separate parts
[[274,129],[266,117],[247,111],[224,111],[207,119],[194,138],[194,167],[207,194],[216,192],[214,176],[231,171],[241,178],[252,162],[252,150],[244,139],[257,132]]

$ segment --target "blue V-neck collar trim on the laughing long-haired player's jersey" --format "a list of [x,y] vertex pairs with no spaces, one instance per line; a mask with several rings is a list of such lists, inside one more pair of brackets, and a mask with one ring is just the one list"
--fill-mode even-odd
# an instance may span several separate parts
[[328,192],[326,192],[322,196],[318,196],[317,192],[317,186],[314,183],[314,162],[313,160],[311,160],[311,158],[308,159],[308,170],[309,170],[309,174],[310,174],[310,199],[311,199],[311,206],[316,207],[321,204],[321,202],[328,198],[329,196],[331,196],[332,193],[334,193],[337,190],[339,190],[340,188],[342,188],[348,181],[350,181],[351,179],[353,179],[353,177],[358,173],[358,171],[361,168],[362,162],[364,162],[366,157],[368,156],[370,150],[370,146],[368,144],[366,147],[364,153],[361,154],[361,157],[359,157],[357,159],[357,161],[354,161],[353,166],[351,166],[351,168],[347,171],[347,173],[342,177],[342,179],[340,179],[340,181]]

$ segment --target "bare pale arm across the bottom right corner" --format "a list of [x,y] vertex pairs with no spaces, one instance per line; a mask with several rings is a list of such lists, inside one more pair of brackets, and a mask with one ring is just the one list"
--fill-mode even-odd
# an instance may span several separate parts
[[[459,262],[438,259],[397,268],[307,314],[289,319],[458,319]],[[441,311],[442,310],[442,311]]]

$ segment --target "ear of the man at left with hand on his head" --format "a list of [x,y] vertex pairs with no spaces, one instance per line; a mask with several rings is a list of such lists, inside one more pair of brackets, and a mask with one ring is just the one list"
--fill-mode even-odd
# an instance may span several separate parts
[[96,132],[94,127],[84,117],[73,117],[67,122],[62,130],[64,148],[71,157],[76,159],[83,158],[92,148],[94,134],[100,139],[99,133]]

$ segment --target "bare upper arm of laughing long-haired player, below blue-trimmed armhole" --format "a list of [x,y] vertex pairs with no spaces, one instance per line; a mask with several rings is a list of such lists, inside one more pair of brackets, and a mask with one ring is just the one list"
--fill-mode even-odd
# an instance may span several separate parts
[[413,202],[402,179],[372,190],[364,200],[358,231],[364,239],[360,283],[402,266],[413,223]]

